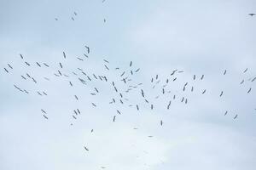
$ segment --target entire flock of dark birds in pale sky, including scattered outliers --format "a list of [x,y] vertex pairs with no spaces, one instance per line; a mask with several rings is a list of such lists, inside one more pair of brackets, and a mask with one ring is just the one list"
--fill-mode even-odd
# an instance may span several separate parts
[[[102,1],[104,3],[105,0]],[[72,20],[75,20],[75,17],[78,15],[76,12],[73,13]],[[255,14],[249,14],[250,16],[254,16]],[[58,18],[55,18],[57,21]],[[104,19],[104,22],[106,22],[106,19]],[[148,82],[137,82],[136,78],[137,74],[141,71],[140,68],[135,67],[133,62],[131,61],[126,68],[121,68],[119,66],[113,66],[108,61],[108,59],[102,59],[102,74],[96,74],[93,72],[85,71],[83,67],[77,67],[74,70],[68,70],[67,58],[70,56],[67,56],[66,52],[62,52],[62,59],[60,61],[57,61],[56,65],[50,65],[46,62],[35,62],[32,63],[26,59],[25,56],[20,54],[21,65],[25,65],[26,67],[37,66],[39,68],[44,67],[46,69],[49,69],[47,71],[50,72],[49,77],[35,77],[32,75],[32,73],[28,73],[25,71],[22,75],[20,75],[20,78],[23,81],[33,83],[34,85],[39,85],[40,82],[46,81],[54,81],[55,78],[63,79],[63,81],[67,84],[67,86],[72,89],[76,88],[77,84],[81,84],[84,86],[84,88],[89,88],[90,93],[88,93],[88,96],[97,96],[97,95],[104,95],[102,94],[102,91],[99,87],[104,86],[108,87],[108,94],[110,93],[112,97],[106,101],[109,106],[114,107],[114,110],[116,111],[116,114],[112,117],[112,121],[117,121],[117,116],[122,115],[122,108],[127,106],[129,108],[134,108],[135,111],[141,111],[143,108],[146,108],[147,110],[154,111],[156,108],[162,107],[166,110],[171,110],[172,105],[175,102],[183,103],[184,105],[187,105],[189,103],[189,97],[186,96],[185,93],[197,93],[197,94],[207,94],[207,88],[197,88],[196,83],[197,81],[204,81],[205,75],[192,75],[189,77],[188,81],[183,81],[182,85],[179,83],[175,83],[179,80],[180,75],[182,75],[185,71],[183,70],[177,70],[173,69],[169,72],[168,76],[165,78],[160,79],[160,75],[156,74],[153,77],[148,80]],[[86,62],[87,59],[90,59],[90,47],[84,46],[84,54],[82,57],[75,57],[72,59],[76,59],[79,62]],[[52,72],[53,68],[56,68],[55,71]],[[8,63],[3,70],[11,75],[15,71],[15,67]],[[247,73],[248,69],[246,68],[242,73]],[[108,76],[108,72],[111,72],[112,75],[115,75],[115,77]],[[20,73],[20,72],[19,72]],[[222,76],[227,75],[227,70],[224,70],[222,73]],[[17,82],[20,82],[18,80]],[[241,82],[237,82],[237,84],[244,84],[246,82],[256,82],[256,77],[251,77],[249,79],[241,79]],[[49,97],[50,94],[46,90],[38,90],[38,91],[32,91],[32,89],[26,88],[26,87],[20,87],[19,83],[13,84],[14,88],[18,90],[22,94],[36,94],[38,96],[46,96]],[[176,90],[173,90],[172,87],[176,86]],[[253,86],[253,84],[252,84]],[[147,90],[150,90],[149,92]],[[152,91],[156,92],[156,95],[152,93]],[[250,94],[252,92],[253,88],[247,88],[247,91],[244,93]],[[107,94],[107,95],[108,95]],[[225,92],[224,90],[220,90],[218,95],[219,98],[222,98],[224,96]],[[132,99],[136,96],[136,99]],[[80,100],[80,94],[73,94],[73,100],[79,102]],[[158,105],[157,102],[155,102],[158,99],[165,99],[165,103],[161,106]],[[90,102],[91,107],[96,108],[100,105],[99,102],[91,101]],[[256,110],[256,109],[255,109]],[[40,108],[40,111],[42,113],[42,116],[44,119],[48,120],[50,118],[48,111],[44,108]],[[224,111],[224,116],[228,115],[229,111]],[[75,120],[79,118],[79,115],[82,114],[82,111],[79,108],[73,109],[73,111],[70,112],[70,125],[73,126],[73,123]],[[235,114],[232,116],[233,119],[238,118],[238,114]],[[164,125],[164,121],[160,120],[160,126]],[[137,127],[134,127],[134,129],[137,129]],[[90,130],[91,133],[93,133],[93,129]],[[152,138],[153,136],[148,136],[148,138]],[[89,151],[89,148],[84,146],[84,150]],[[106,167],[102,167],[106,168]]]

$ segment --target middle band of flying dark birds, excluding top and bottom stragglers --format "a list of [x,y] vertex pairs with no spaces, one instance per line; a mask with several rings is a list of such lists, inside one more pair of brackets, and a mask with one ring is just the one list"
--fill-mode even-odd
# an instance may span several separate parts
[[[85,48],[85,53],[83,54],[84,57],[77,57],[76,59],[78,59],[81,62],[86,61],[85,59],[89,59],[89,55],[90,55],[90,48],[88,46],[84,46]],[[95,73],[90,74],[89,72],[84,71],[84,68],[78,67],[77,71],[64,71],[64,65],[66,65],[67,63],[65,62],[65,59],[67,59],[67,54],[65,52],[62,53],[63,55],[63,61],[59,61],[58,62],[58,69],[52,73],[52,76],[54,77],[62,77],[63,79],[65,79],[65,82],[67,82],[68,86],[70,88],[75,88],[76,87],[76,83],[82,83],[84,85],[84,87],[90,88],[90,93],[89,95],[91,96],[96,96],[96,95],[100,95],[101,94],[101,90],[97,87],[92,87],[92,86],[88,86],[90,83],[94,84],[99,84],[103,83],[103,86],[109,86],[109,88],[113,88],[113,97],[111,99],[108,100],[108,104],[109,105],[114,105],[114,104],[120,104],[121,107],[123,107],[124,105],[128,106],[128,107],[133,107],[135,108],[135,110],[140,111],[142,109],[142,107],[146,107],[150,110],[154,110],[154,108],[156,107],[156,105],[154,105],[154,101],[157,99],[161,98],[166,98],[166,104],[164,104],[164,107],[166,107],[166,110],[170,110],[171,109],[171,105],[173,102],[175,101],[180,101],[181,103],[184,103],[185,105],[188,104],[189,99],[188,97],[185,96],[185,93],[187,91],[189,91],[190,93],[195,93],[195,88],[196,88],[196,81],[203,81],[205,78],[205,75],[202,74],[200,76],[198,75],[193,75],[191,77],[192,82],[188,81],[188,82],[183,82],[182,85],[180,84],[175,84],[175,82],[177,82],[177,79],[179,78],[179,75],[181,75],[182,73],[184,73],[184,71],[179,71],[177,69],[171,71],[169,73],[169,77],[166,77],[166,79],[160,79],[160,75],[156,74],[154,77],[151,77],[151,79],[148,81],[147,84],[143,84],[143,82],[135,82],[133,80],[133,77],[136,77],[138,72],[141,71],[140,68],[134,68],[133,67],[133,62],[131,61],[129,64],[128,69],[122,69],[120,67],[114,67],[111,68],[111,65],[109,63],[109,61],[107,59],[103,59],[102,62],[102,67],[103,69],[105,69],[106,71],[114,71],[114,73],[116,74],[115,80],[112,80],[112,77],[108,77],[106,73],[102,72],[101,75],[96,75]],[[24,56],[22,54],[20,54],[20,59],[22,59],[23,61],[23,65],[26,65],[27,67],[30,67],[32,65],[36,65],[38,67],[46,67],[49,68],[50,65],[48,63],[39,63],[39,62],[35,62],[35,63],[30,63],[29,61],[27,61]],[[12,66],[11,64],[7,64],[6,67],[3,68],[3,70],[8,73],[11,74],[13,70],[15,70],[14,66]],[[51,70],[49,70],[51,71]],[[246,73],[248,71],[248,69],[246,68],[244,71],[242,71],[242,73]],[[227,70],[224,70],[223,72],[223,76],[225,76],[227,74]],[[73,80],[71,80],[72,78],[76,78],[76,82],[74,82]],[[32,74],[26,72],[23,75],[20,75],[20,78],[23,79],[24,81],[30,81],[33,82],[34,84],[38,84],[40,83],[38,81],[38,79],[40,77],[34,77]],[[50,80],[52,80],[52,77],[41,77],[41,79],[44,79],[44,81],[49,82]],[[241,82],[239,82],[239,84],[243,84],[246,82],[254,82],[256,80],[256,77],[251,77],[249,79],[242,79]],[[256,82],[256,81],[255,81]],[[117,85],[118,84],[118,85]],[[101,86],[102,86],[101,85]],[[119,86],[119,87],[118,87]],[[122,87],[120,87],[122,86]],[[151,86],[151,92],[148,93],[145,89],[145,86]],[[181,87],[177,87],[176,90],[173,90],[173,86],[181,86]],[[45,90],[41,90],[41,91],[36,91],[36,92],[31,92],[31,90],[26,89],[26,88],[20,88],[20,86],[18,84],[14,84],[14,88],[16,88],[18,91],[24,93],[24,94],[38,94],[39,96],[48,96],[49,94],[45,91]],[[172,88],[172,89],[170,89]],[[250,94],[253,88],[248,88],[247,89],[247,94]],[[152,93],[152,90],[156,90],[157,91],[157,95],[152,96],[150,94]],[[179,90],[179,91],[178,91]],[[131,92],[133,93],[132,95]],[[197,92],[201,93],[201,95],[206,94],[207,93],[207,88],[202,88],[202,89],[197,89]],[[134,96],[134,94],[137,94],[138,98],[137,98],[137,103],[132,103],[132,96]],[[105,94],[106,95],[106,94]],[[222,98],[224,95],[224,90],[219,91],[219,98]],[[73,94],[73,100],[79,101],[79,94]],[[141,100],[141,101],[138,101]],[[141,105],[139,105],[138,103],[140,103]],[[99,104],[96,102],[91,102],[91,106],[92,107],[97,107]],[[43,116],[45,119],[49,119],[49,116],[47,116],[47,111],[45,111],[44,108],[41,109]],[[121,115],[121,109],[116,109],[116,113],[118,115]],[[73,110],[73,119],[77,119],[78,116],[81,114],[81,111],[79,110],[79,108]],[[228,111],[224,112],[224,116],[226,116],[228,114]],[[237,114],[233,117],[234,119],[237,118]],[[113,116],[113,122],[116,121],[116,116]],[[160,125],[163,125],[163,121],[160,120]],[[71,123],[71,126],[73,126],[73,122]]]

